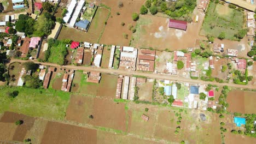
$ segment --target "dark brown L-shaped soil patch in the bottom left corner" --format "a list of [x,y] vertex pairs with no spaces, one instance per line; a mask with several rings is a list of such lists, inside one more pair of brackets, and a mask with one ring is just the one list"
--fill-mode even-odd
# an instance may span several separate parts
[[22,114],[14,113],[14,112],[5,112],[0,122],[3,123],[13,123],[16,121],[22,120],[24,123],[18,125],[13,135],[14,141],[23,141],[26,137],[26,133],[33,127],[35,118],[25,116]]

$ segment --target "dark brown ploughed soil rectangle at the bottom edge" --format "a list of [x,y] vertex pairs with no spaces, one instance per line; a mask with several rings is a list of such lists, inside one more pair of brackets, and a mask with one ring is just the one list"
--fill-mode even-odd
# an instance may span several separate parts
[[48,122],[41,143],[97,143],[97,131],[57,122]]

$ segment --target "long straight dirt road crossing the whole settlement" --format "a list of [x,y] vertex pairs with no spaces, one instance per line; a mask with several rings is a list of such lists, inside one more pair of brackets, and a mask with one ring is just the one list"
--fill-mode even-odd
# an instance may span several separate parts
[[[11,59],[10,63],[13,62],[27,62],[25,60],[21,59]],[[34,63],[40,63],[43,65],[51,65],[56,68],[66,68],[66,69],[74,69],[74,70],[84,70],[84,71],[98,71],[100,73],[108,73],[108,74],[118,74],[118,75],[141,75],[146,76],[153,79],[162,79],[162,80],[172,80],[172,81],[183,81],[183,82],[189,82],[189,83],[200,83],[208,85],[209,83],[212,85],[217,86],[225,86],[228,85],[229,87],[236,87],[236,88],[249,88],[249,89],[256,89],[255,85],[236,85],[235,83],[218,83],[218,82],[210,82],[210,81],[202,81],[202,80],[193,80],[188,79],[181,76],[176,75],[164,75],[164,74],[154,74],[154,73],[148,73],[148,72],[141,72],[141,71],[131,71],[131,70],[119,70],[119,69],[104,69],[104,68],[96,68],[96,67],[83,67],[83,66],[75,66],[75,65],[58,65],[55,63],[44,63],[44,62],[38,62],[33,61]]]

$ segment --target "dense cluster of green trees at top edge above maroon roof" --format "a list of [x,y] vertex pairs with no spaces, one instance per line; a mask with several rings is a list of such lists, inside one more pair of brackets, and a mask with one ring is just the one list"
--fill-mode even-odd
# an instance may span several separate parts
[[141,7],[141,14],[148,13],[149,9],[152,15],[158,12],[165,13],[168,16],[175,18],[183,18],[184,20],[191,22],[190,14],[196,7],[196,1],[179,0],[177,2],[165,1],[165,0],[147,0],[145,5]]

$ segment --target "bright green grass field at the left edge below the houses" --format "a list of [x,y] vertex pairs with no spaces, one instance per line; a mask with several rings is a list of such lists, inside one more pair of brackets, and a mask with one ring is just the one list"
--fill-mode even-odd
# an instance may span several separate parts
[[[33,117],[64,119],[69,103],[69,94],[54,89],[1,86],[0,113],[12,111]],[[15,98],[9,93],[18,91]]]

